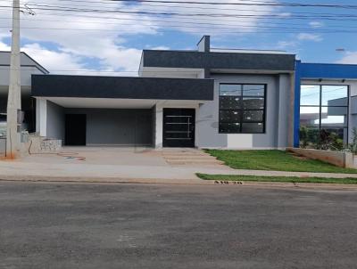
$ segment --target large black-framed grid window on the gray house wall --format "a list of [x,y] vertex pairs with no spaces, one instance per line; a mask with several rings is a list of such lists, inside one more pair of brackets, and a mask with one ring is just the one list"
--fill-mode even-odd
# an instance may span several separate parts
[[265,92],[265,85],[220,84],[220,133],[264,133]]

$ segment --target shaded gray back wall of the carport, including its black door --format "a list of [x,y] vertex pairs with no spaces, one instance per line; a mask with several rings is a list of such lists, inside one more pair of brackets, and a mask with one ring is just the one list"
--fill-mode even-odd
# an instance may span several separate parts
[[152,114],[151,109],[66,109],[65,144],[152,146]]

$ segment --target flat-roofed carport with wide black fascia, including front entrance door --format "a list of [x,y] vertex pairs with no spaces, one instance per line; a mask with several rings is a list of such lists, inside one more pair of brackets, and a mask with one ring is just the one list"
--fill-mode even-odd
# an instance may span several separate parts
[[32,95],[37,132],[65,145],[195,146],[195,110],[212,101],[213,81],[33,76]]

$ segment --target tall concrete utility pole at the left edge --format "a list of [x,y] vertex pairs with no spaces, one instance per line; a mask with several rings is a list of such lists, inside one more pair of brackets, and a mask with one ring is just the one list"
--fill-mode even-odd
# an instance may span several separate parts
[[21,110],[20,0],[12,4],[12,51],[7,99],[6,158],[19,156],[18,111]]

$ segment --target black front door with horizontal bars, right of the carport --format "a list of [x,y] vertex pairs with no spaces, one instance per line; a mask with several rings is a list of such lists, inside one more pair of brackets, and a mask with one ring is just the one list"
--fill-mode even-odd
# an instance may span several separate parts
[[163,109],[163,146],[195,147],[195,110]]

